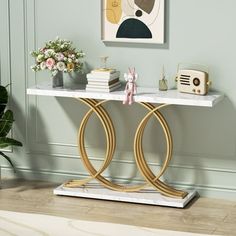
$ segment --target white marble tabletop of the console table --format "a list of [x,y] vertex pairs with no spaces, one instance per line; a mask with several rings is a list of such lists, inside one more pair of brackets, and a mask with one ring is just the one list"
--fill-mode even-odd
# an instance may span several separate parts
[[[125,94],[123,89],[106,92],[85,91],[85,85],[78,84],[73,88],[52,88],[50,83],[35,85],[27,89],[29,95],[54,96],[54,97],[76,97],[92,98],[98,100],[123,101]],[[136,102],[165,103],[174,105],[213,107],[224,98],[218,92],[209,92],[206,96],[180,93],[176,89],[158,91],[158,88],[138,87],[134,96]]]

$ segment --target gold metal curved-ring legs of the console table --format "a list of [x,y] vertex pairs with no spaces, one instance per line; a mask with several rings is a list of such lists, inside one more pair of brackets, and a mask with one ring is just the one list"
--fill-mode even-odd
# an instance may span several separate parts
[[[139,168],[139,171],[141,172],[144,179],[146,180],[146,183],[141,184],[141,185],[135,185],[135,186],[125,186],[125,185],[115,184],[101,175],[106,170],[106,168],[110,165],[114,152],[115,152],[115,146],[116,146],[116,136],[115,136],[115,129],[114,129],[113,123],[111,121],[111,118],[105,111],[104,107],[102,106],[102,104],[108,102],[108,100],[103,100],[100,102],[94,99],[85,99],[85,98],[79,98],[78,100],[80,100],[81,102],[83,102],[84,104],[90,107],[90,110],[85,114],[79,128],[78,147],[79,147],[83,164],[85,168],[87,169],[87,171],[89,172],[89,174],[91,175],[91,177],[87,179],[83,179],[83,180],[71,180],[65,184],[65,187],[77,188],[82,185],[85,185],[91,180],[96,179],[106,188],[109,188],[115,191],[121,191],[121,192],[136,192],[147,187],[147,185],[152,185],[160,193],[168,197],[184,198],[188,194],[187,192],[176,190],[166,185],[160,180],[160,177],[163,175],[163,173],[166,171],[169,165],[169,162],[172,157],[172,148],[173,148],[173,142],[172,142],[170,129],[168,127],[166,120],[164,119],[162,114],[159,112],[159,109],[165,106],[168,106],[168,104],[162,104],[160,106],[155,107],[149,103],[140,103],[149,112],[142,119],[142,121],[140,122],[136,130],[136,134],[134,138],[134,155],[135,155],[135,160]],[[97,117],[102,123],[102,126],[105,131],[106,143],[107,143],[106,155],[99,170],[96,170],[94,166],[91,164],[89,157],[87,155],[86,149],[85,149],[85,142],[84,142],[85,128],[93,112],[97,115]],[[154,115],[157,121],[161,124],[161,127],[165,134],[166,145],[167,145],[165,161],[159,174],[157,175],[155,175],[149,168],[145,160],[143,147],[142,147],[143,133],[152,115]]]

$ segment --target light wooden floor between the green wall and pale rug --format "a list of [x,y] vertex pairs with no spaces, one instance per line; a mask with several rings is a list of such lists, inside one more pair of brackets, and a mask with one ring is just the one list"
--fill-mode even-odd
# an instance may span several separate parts
[[195,233],[236,235],[236,202],[198,198],[185,209],[54,196],[57,185],[5,179],[0,209]]

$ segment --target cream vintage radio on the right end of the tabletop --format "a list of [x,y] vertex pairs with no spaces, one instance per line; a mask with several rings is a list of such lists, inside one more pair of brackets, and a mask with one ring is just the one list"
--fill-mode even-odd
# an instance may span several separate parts
[[180,69],[176,75],[177,89],[179,92],[206,95],[210,81],[208,73],[193,69]]

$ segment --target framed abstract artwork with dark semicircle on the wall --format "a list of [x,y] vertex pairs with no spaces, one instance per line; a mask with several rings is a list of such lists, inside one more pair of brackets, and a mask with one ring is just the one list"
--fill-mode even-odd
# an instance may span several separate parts
[[102,40],[164,43],[165,0],[102,0]]

